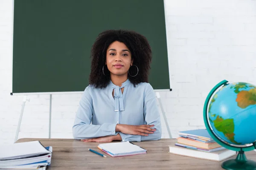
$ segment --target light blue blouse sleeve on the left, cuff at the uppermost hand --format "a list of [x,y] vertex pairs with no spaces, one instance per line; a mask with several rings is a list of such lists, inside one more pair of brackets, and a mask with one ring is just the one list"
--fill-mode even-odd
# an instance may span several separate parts
[[[95,106],[97,107],[97,106]],[[89,86],[85,88],[79,107],[76,112],[73,125],[74,139],[88,139],[100,136],[117,135],[116,123],[103,123],[102,125],[90,125],[93,116],[93,99],[90,95]]]

